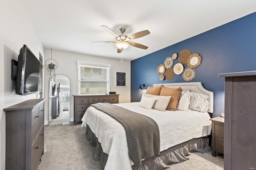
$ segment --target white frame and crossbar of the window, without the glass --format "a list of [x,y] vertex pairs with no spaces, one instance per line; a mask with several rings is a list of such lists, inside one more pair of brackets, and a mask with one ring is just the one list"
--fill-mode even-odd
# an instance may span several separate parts
[[[107,80],[106,81],[98,81],[98,82],[106,82],[107,83],[107,89],[108,92],[110,90],[110,68],[109,67],[102,67],[102,66],[90,66],[90,65],[82,65],[78,64],[78,94],[81,94],[81,67],[90,67],[90,68],[101,68],[107,70]],[[94,80],[87,81],[87,82],[96,82]],[[105,93],[104,93],[105,94]],[[88,94],[90,95],[90,94]],[[98,94],[91,94],[91,95],[98,95]]]

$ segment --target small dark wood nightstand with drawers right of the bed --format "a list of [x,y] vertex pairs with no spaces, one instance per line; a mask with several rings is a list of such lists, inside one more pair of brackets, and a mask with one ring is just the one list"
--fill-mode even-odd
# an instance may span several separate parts
[[214,117],[212,121],[212,156],[216,152],[224,154],[224,117]]

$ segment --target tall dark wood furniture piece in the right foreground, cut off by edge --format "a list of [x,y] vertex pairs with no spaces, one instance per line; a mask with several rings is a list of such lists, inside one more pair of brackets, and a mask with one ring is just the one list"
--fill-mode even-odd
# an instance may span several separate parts
[[224,169],[256,168],[256,71],[225,78]]

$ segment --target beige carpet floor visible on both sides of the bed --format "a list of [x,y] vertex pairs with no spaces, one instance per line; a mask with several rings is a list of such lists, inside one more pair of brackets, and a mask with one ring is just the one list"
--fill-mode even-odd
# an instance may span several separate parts
[[[85,139],[85,128],[78,125],[44,127],[44,155],[38,170],[103,170],[92,160],[95,147]],[[223,154],[193,153],[189,160],[172,164],[168,170],[223,170]]]

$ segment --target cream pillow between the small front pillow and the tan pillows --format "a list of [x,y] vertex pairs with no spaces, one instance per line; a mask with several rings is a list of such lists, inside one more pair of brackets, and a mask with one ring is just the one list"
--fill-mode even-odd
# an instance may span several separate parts
[[168,103],[171,99],[171,96],[155,96],[151,94],[142,94],[142,96],[147,96],[150,98],[156,98],[156,102],[154,103],[152,109],[156,109],[159,111],[165,111]]

